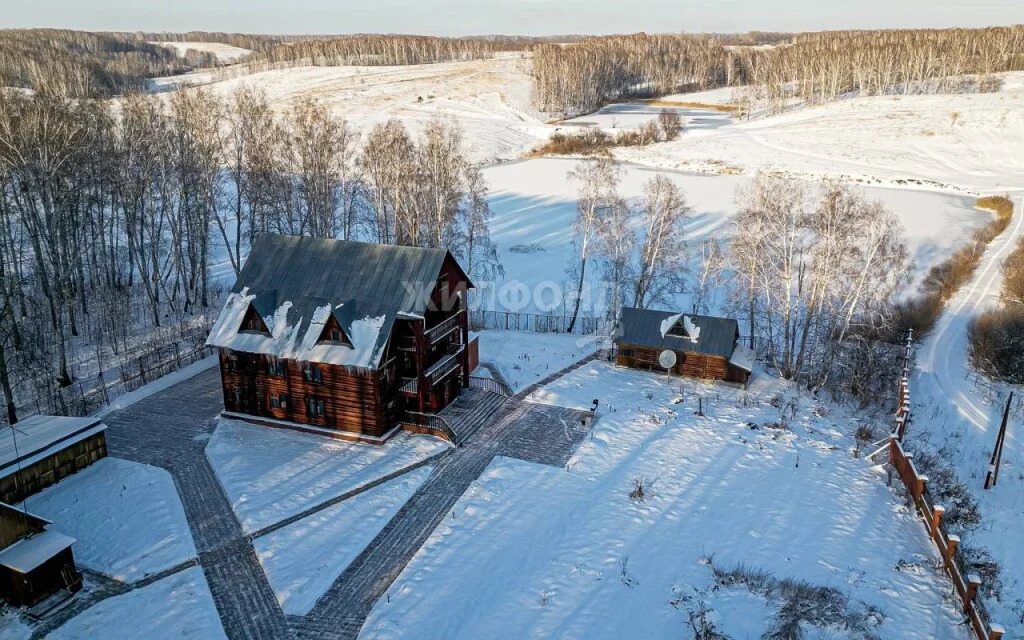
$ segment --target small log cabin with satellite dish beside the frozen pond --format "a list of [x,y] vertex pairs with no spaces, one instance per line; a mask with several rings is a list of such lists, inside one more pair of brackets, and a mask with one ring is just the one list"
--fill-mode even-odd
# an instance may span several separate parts
[[658,357],[669,350],[676,354],[670,373],[743,386],[754,368],[754,351],[739,344],[739,326],[728,317],[627,307],[614,343],[622,367],[664,372]]

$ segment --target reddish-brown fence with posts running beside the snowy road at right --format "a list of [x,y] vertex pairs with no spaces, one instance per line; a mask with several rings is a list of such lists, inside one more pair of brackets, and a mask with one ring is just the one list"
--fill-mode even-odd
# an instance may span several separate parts
[[903,436],[910,424],[910,356],[912,353],[913,334],[907,338],[906,352],[903,359],[903,373],[899,381],[899,407],[896,410],[896,423],[889,436],[889,462],[906,490],[910,494],[918,513],[924,519],[929,538],[935,543],[942,556],[942,564],[953,584],[953,590],[959,598],[961,609],[967,617],[968,626],[978,640],[999,640],[1006,633],[1000,625],[993,623],[985,607],[984,599],[978,595],[981,588],[981,578],[970,573],[961,551],[961,539],[946,530],[942,516],[946,509],[932,499],[929,492],[928,476],[920,473],[913,464],[913,454],[903,450]]

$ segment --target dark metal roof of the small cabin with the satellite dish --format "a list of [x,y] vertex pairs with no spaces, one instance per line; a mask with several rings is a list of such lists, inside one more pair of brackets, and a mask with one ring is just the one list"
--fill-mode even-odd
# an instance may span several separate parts
[[[697,341],[693,342],[689,338],[662,335],[662,323],[673,315],[678,315],[678,313],[626,307],[623,309],[622,317],[615,329],[615,343],[719,355],[726,359],[732,356],[736,339],[739,337],[739,326],[736,321],[731,317],[687,314],[693,324],[700,329]],[[679,322],[681,323],[682,319],[682,315],[680,315]]]

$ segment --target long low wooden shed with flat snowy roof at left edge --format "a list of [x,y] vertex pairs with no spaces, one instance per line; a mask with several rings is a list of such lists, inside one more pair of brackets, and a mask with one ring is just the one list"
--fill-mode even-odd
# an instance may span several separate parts
[[0,428],[0,502],[16,504],[106,456],[98,418],[32,416]]

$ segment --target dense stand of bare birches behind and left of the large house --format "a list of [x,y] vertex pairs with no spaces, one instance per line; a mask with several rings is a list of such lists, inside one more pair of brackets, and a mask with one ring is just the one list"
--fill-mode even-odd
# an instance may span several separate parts
[[[0,387],[55,393],[135,341],[214,311],[253,240],[279,232],[438,247],[501,269],[461,131],[356,132],[317,102],[245,88],[118,101],[0,94]],[[226,262],[218,265],[217,260]],[[83,347],[83,345],[88,345]]]

